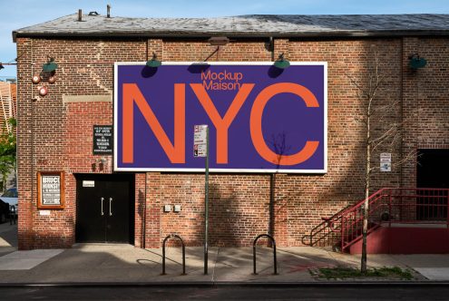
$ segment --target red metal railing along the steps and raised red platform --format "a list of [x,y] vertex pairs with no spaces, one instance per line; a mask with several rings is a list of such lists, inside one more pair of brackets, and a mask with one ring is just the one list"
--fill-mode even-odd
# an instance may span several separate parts
[[[364,203],[365,199],[338,218],[342,251],[362,238]],[[368,204],[368,234],[392,224],[449,227],[449,189],[380,189],[368,198]]]

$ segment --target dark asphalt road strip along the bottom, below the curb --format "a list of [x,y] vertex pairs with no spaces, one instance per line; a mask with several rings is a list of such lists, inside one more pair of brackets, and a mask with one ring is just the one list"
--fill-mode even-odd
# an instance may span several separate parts
[[449,286],[18,286],[1,300],[449,300]]

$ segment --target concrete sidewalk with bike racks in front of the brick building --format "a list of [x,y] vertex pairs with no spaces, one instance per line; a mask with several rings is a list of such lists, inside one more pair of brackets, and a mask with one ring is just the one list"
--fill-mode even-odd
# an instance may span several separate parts
[[[209,273],[204,275],[203,248],[186,248],[186,274],[181,275],[181,248],[167,248],[166,275],[162,249],[130,245],[77,244],[70,249],[17,251],[7,233],[15,226],[0,225],[0,284],[83,283],[320,283],[309,270],[317,267],[359,267],[360,257],[320,248],[278,248],[278,275],[273,275],[271,248],[258,248],[253,275],[252,248],[210,248]],[[6,228],[6,229],[5,229]],[[5,239],[6,238],[6,239]],[[370,267],[412,269],[415,281],[449,281],[449,255],[372,255]],[[371,281],[373,279],[370,279]],[[356,280],[364,281],[364,280]],[[366,280],[365,280],[366,281]],[[380,279],[377,281],[388,281]]]

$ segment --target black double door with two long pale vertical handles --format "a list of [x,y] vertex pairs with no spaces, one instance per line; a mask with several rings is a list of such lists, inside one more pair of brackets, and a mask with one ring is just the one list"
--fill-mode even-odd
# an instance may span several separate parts
[[78,175],[76,241],[132,243],[133,186],[129,175]]

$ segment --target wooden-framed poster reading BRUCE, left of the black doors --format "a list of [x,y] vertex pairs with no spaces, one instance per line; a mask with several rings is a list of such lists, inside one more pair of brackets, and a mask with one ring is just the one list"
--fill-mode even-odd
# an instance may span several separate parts
[[63,171],[37,172],[37,208],[63,209]]

